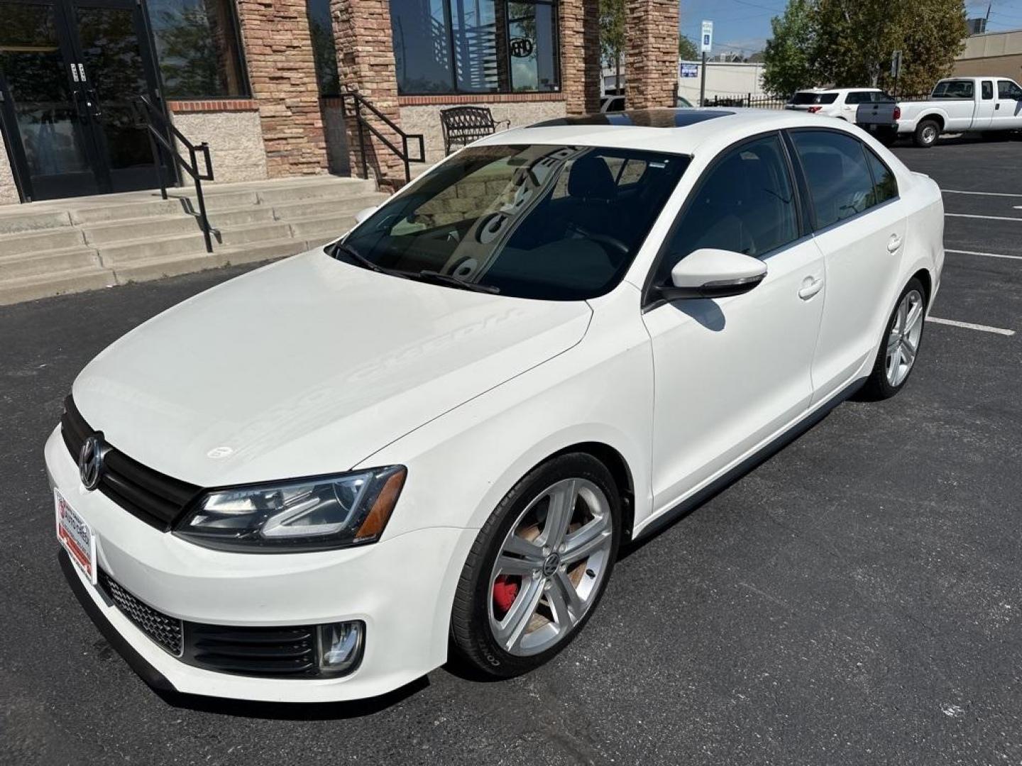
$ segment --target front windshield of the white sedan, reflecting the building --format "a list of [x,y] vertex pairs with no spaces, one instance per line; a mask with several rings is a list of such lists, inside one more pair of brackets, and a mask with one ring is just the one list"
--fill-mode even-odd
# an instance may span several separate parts
[[335,257],[502,295],[612,289],[689,158],[630,149],[470,147],[380,207]]

